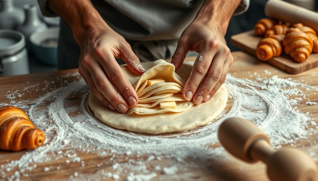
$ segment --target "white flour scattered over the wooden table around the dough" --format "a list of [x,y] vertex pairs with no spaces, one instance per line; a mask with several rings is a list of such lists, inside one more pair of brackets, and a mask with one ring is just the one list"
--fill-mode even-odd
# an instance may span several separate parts
[[[66,81],[63,79],[65,77],[74,79]],[[53,88],[49,89],[52,85]],[[84,81],[79,80],[78,74],[63,75],[37,85],[27,82],[26,87],[9,91],[6,97],[10,105],[20,107],[28,113],[34,125],[44,131],[46,140],[44,145],[28,150],[19,159],[1,165],[0,173],[2,178],[7,180],[19,180],[21,176],[26,177],[30,171],[36,169],[37,164],[65,157],[68,157],[66,163],[79,163],[85,167],[86,163],[76,154],[80,150],[95,153],[100,157],[113,156],[107,162],[98,164],[100,168],[96,176],[76,172],[71,175],[72,179],[100,180],[105,177],[127,178],[128,181],[151,180],[159,171],[173,174],[180,167],[155,166],[151,170],[147,167],[148,162],[172,158],[177,161],[176,164],[188,164],[191,167],[195,164],[185,162],[185,158],[193,158],[203,163],[207,159],[229,159],[222,147],[208,146],[218,143],[218,126],[229,117],[243,117],[253,121],[270,137],[274,147],[294,144],[298,139],[306,138],[307,126],[316,124],[308,117],[309,114],[301,113],[296,107],[304,104],[302,101],[307,99],[301,89],[317,90],[315,87],[297,83],[291,78],[278,78],[276,75],[265,79],[257,76],[255,80],[228,75],[225,86],[229,92],[231,108],[224,111],[213,123],[188,132],[147,135],[117,130],[96,120],[88,110],[88,88]],[[39,96],[36,94],[37,90],[49,90],[49,93]],[[34,94],[37,99],[23,100],[24,94]],[[82,98],[71,99],[73,95],[82,95]],[[46,102],[51,103],[43,107],[47,105]],[[0,106],[4,105],[8,104],[0,103]],[[182,113],[180,115],[182,116]],[[115,155],[130,159],[120,162],[117,158],[119,156]],[[142,159],[140,155],[148,156]],[[112,165],[112,172],[103,170],[103,164]],[[59,170],[60,166],[56,167],[56,170]],[[18,168],[18,171],[12,173],[14,168]],[[45,167],[44,171],[54,169]],[[97,175],[101,175],[101,178]]]

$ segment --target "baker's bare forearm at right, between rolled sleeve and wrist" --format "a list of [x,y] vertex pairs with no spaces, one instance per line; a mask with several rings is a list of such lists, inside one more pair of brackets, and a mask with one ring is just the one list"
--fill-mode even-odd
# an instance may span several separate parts
[[240,2],[241,0],[205,0],[194,21],[207,25],[217,23],[225,35],[230,19]]

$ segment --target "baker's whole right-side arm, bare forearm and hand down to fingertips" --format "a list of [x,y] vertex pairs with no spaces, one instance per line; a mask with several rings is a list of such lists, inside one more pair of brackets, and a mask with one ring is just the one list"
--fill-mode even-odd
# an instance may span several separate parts
[[176,70],[189,51],[199,53],[183,89],[184,99],[198,105],[208,101],[224,83],[233,62],[224,35],[239,2],[205,1],[195,20],[183,31],[171,60]]

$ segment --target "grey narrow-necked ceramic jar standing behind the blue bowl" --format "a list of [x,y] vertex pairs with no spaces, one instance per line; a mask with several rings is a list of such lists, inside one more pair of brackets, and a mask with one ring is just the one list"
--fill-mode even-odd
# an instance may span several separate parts
[[26,48],[29,53],[31,52],[30,36],[33,32],[38,30],[47,29],[45,23],[43,23],[38,17],[38,7],[33,4],[24,5],[25,21],[22,25],[17,27],[17,30],[22,32],[25,36]]

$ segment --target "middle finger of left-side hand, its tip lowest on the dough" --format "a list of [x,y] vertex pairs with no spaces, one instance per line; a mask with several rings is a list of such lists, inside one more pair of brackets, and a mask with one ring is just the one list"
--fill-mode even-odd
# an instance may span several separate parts
[[[128,111],[128,104],[108,80],[100,64],[97,61],[93,61],[92,58],[87,55],[84,56],[83,61],[91,74],[89,77],[94,83],[94,86],[92,86],[93,94],[97,94],[96,92],[99,91],[119,112],[126,113]],[[88,80],[87,76],[86,79]]]

